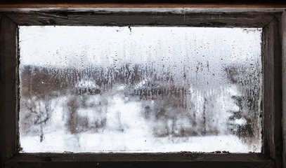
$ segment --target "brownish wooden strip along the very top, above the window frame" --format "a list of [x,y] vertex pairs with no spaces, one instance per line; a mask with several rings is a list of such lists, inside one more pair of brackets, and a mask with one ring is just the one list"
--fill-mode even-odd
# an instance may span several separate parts
[[1,0],[6,8],[265,8],[285,7],[285,1],[279,0]]

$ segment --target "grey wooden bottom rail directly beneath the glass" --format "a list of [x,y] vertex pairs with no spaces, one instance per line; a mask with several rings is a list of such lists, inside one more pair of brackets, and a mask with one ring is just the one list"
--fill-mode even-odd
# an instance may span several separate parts
[[98,161],[203,161],[273,162],[262,153],[20,153],[12,158],[20,162],[98,162]]

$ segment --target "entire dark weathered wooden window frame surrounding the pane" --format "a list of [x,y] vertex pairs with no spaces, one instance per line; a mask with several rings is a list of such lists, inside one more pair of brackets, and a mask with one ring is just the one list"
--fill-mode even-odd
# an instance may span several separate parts
[[[282,167],[281,15],[281,12],[181,15],[60,9],[0,13],[0,167]],[[22,25],[263,28],[262,153],[19,153],[18,27]]]

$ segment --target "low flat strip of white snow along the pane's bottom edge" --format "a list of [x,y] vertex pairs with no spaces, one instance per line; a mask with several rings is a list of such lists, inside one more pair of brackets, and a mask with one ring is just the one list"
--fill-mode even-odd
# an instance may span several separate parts
[[[46,139],[41,143],[39,143],[39,137],[24,137],[21,140],[21,146],[24,148],[22,151],[24,153],[43,152],[42,150],[51,153],[249,152],[249,147],[242,144],[238,137],[233,135],[172,139],[134,136],[134,134],[118,134],[117,132],[105,134],[84,133],[74,136],[59,131],[46,134]],[[77,144],[77,146],[74,146],[74,144]],[[257,147],[254,152],[261,152],[260,148]]]

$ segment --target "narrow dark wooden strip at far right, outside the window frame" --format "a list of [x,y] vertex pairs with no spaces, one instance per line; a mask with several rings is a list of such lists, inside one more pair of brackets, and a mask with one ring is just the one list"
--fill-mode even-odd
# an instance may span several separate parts
[[286,13],[281,16],[280,41],[282,44],[282,167],[286,168]]

